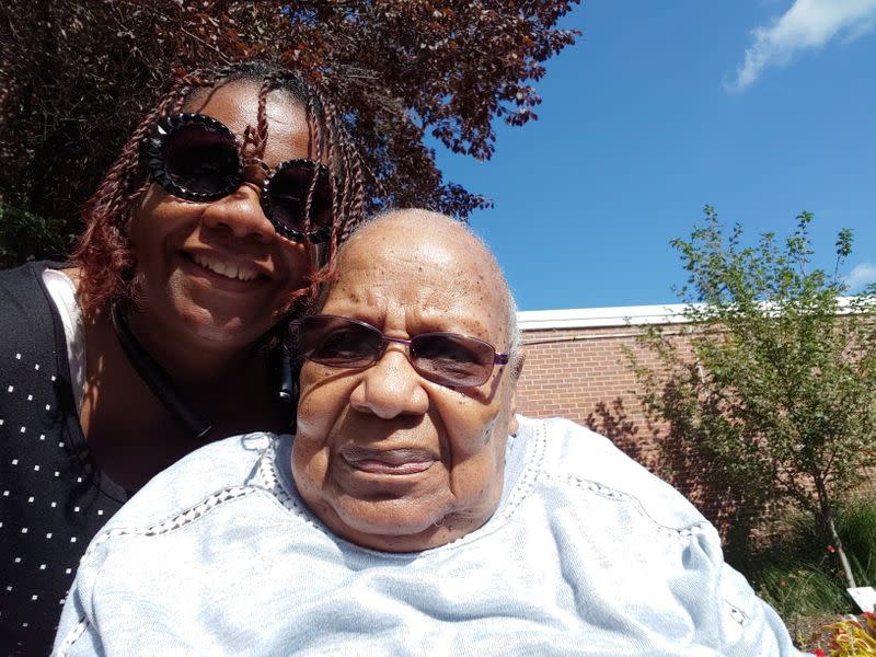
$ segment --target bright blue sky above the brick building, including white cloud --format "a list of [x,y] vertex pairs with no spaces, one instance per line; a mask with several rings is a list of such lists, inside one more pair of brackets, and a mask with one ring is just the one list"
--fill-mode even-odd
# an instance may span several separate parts
[[669,245],[715,206],[753,242],[815,212],[817,264],[876,280],[876,0],[585,0],[488,162],[438,152],[495,203],[470,218],[521,310],[671,303]]

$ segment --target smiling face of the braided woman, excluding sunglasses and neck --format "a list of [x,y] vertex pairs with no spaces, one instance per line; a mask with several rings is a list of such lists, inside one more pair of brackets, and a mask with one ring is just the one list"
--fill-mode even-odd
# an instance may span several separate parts
[[[231,82],[200,91],[186,112],[217,118],[243,140],[257,122],[258,84]],[[284,92],[267,96],[269,166],[312,158],[303,107]],[[135,327],[196,346],[240,348],[254,343],[304,286],[308,247],[279,237],[260,205],[257,184],[212,203],[176,198],[153,183],[132,218],[137,257]],[[148,321],[147,321],[148,319]]]

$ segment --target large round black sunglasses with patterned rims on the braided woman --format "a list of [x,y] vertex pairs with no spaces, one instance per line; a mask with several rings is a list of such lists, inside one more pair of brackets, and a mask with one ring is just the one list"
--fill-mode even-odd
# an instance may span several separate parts
[[325,166],[287,160],[272,171],[262,160],[244,159],[234,132],[210,116],[183,113],[159,120],[146,141],[146,162],[165,192],[186,200],[218,200],[254,177],[262,184],[265,217],[280,235],[293,242],[306,235],[324,242],[332,234],[332,186]]

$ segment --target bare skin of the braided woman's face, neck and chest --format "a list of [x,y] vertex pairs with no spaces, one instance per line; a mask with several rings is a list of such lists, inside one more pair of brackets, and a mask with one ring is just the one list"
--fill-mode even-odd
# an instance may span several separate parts
[[[186,111],[208,114],[241,140],[256,123],[258,85],[231,82],[196,94]],[[304,110],[284,92],[268,95],[269,166],[312,158]],[[185,406],[212,425],[206,439],[186,434],[129,362],[108,312],[85,326],[87,380],[80,420],[97,465],[136,491],[206,441],[254,430],[288,431],[276,403],[264,335],[306,284],[312,257],[279,237],[244,181],[227,197],[194,203],[148,189],[128,238],[137,256],[130,328],[170,374]],[[77,283],[78,272],[65,272]]]

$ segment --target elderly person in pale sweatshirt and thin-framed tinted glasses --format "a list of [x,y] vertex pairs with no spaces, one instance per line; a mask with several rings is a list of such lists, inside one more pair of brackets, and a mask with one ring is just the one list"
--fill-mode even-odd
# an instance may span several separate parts
[[[58,655],[781,655],[714,528],[606,439],[516,418],[514,303],[419,211],[298,324],[295,437],[209,446],[95,538]],[[519,425],[518,425],[519,422]]]

